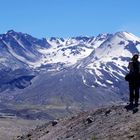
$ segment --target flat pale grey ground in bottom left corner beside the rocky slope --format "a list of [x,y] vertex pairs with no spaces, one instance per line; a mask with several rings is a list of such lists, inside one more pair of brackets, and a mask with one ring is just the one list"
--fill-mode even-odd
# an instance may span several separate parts
[[0,140],[17,139],[17,136],[27,133],[43,123],[45,122],[39,120],[0,118]]

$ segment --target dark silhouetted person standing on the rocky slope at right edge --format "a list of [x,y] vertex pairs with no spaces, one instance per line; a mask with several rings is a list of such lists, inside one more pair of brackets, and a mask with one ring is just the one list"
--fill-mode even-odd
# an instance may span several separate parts
[[129,101],[130,106],[135,105],[136,107],[138,106],[140,88],[140,62],[138,59],[139,54],[134,54],[128,64],[129,73],[131,74],[131,79],[129,80]]

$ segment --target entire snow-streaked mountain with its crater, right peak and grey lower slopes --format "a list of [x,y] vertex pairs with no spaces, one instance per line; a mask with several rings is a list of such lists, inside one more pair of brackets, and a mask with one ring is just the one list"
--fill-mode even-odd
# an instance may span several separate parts
[[117,32],[37,39],[8,31],[0,35],[0,50],[0,81],[5,69],[9,73],[1,82],[1,101],[84,108],[127,98],[124,75],[140,52],[140,38]]

